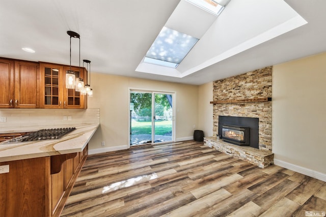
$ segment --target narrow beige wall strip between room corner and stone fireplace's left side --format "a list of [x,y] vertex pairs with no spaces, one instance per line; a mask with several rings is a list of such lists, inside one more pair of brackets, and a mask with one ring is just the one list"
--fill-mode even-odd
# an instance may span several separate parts
[[213,82],[198,87],[198,130],[204,131],[204,136],[213,136]]

